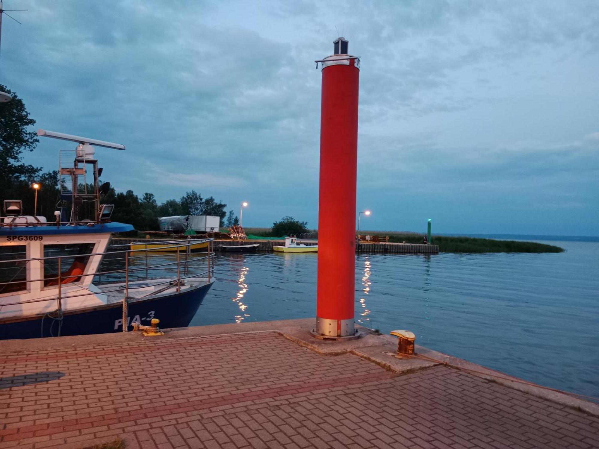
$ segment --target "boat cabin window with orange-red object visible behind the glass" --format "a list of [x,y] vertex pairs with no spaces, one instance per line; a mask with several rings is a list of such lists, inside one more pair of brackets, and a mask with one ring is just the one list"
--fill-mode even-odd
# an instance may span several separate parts
[[[58,286],[58,258],[60,256],[60,283],[70,284],[81,280],[93,243],[69,245],[44,245],[44,287]],[[45,259],[45,257],[53,257]]]

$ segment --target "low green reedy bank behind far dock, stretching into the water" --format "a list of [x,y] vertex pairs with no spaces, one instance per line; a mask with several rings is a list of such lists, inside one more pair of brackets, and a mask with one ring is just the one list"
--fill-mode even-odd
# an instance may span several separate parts
[[[265,238],[273,237],[270,227],[249,227],[246,233]],[[362,235],[388,235],[390,242],[422,243],[423,233],[362,230]],[[542,243],[490,238],[446,237],[432,235],[432,244],[439,245],[441,253],[561,253],[560,247]]]

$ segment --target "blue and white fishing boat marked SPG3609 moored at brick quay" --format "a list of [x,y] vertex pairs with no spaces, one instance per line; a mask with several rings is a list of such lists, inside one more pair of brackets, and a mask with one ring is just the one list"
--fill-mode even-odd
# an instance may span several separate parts
[[[60,157],[62,206],[55,222],[35,211],[25,214],[18,199],[4,201],[0,339],[125,332],[136,323],[151,324],[153,318],[161,327],[188,326],[214,283],[213,253],[153,254],[129,245],[109,247],[112,233],[133,226],[113,222],[114,205],[101,204],[107,187],[98,186],[101,169],[92,145],[125,146],[44,130],[38,136],[78,145],[72,166],[63,167]],[[87,217],[86,203],[93,205]],[[197,243],[209,246],[211,240]],[[187,244],[172,243],[165,249]]]

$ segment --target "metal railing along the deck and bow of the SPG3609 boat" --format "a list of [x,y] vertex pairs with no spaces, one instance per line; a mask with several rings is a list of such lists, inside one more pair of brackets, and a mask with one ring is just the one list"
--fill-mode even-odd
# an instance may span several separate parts
[[[28,289],[29,284],[37,283],[37,282],[47,282],[47,281],[56,281],[57,284],[52,287],[57,287],[56,295],[52,295],[49,298],[40,298],[40,299],[26,299],[24,301],[17,302],[2,302],[0,306],[8,306],[8,305],[20,305],[20,304],[32,304],[36,302],[46,302],[46,301],[57,301],[58,313],[62,314],[62,301],[69,298],[78,298],[81,296],[88,296],[90,294],[107,294],[114,292],[123,292],[123,309],[126,311],[126,302],[129,299],[129,290],[135,289],[143,289],[147,287],[147,284],[138,284],[139,281],[150,280],[156,278],[166,278],[164,281],[159,283],[153,283],[152,286],[161,286],[166,284],[173,284],[176,286],[177,292],[180,291],[180,287],[183,285],[183,281],[189,278],[201,278],[207,277],[208,282],[211,281],[211,277],[214,275],[214,251],[212,246],[213,239],[195,239],[195,240],[181,240],[181,241],[169,241],[168,244],[158,247],[152,248],[151,250],[139,249],[139,250],[115,250],[110,248],[117,248],[129,245],[111,245],[108,247],[109,251],[104,251],[102,253],[87,253],[87,254],[76,254],[76,255],[66,255],[66,256],[46,256],[46,257],[29,257],[26,259],[10,259],[10,260],[0,260],[0,269],[3,269],[2,265],[5,263],[31,263],[31,262],[41,262],[44,263],[47,260],[56,260],[57,263],[57,271],[58,275],[56,277],[46,277],[38,278],[38,279],[27,279],[27,280],[17,280],[17,281],[7,281],[0,283],[0,293],[2,286],[7,286],[11,284],[25,284],[25,289],[27,292],[31,291]],[[208,242],[206,253],[199,253],[198,255],[193,254],[193,257],[190,253],[190,245]],[[172,253],[159,253],[159,251],[163,250],[173,250]],[[140,253],[145,253],[141,256],[137,255]],[[151,254],[147,254],[151,253]],[[155,254],[156,253],[156,254]],[[104,258],[104,256],[110,255],[111,257]],[[98,265],[98,270],[93,273],[88,274],[77,274],[78,278],[77,283],[68,283],[63,284],[65,278],[75,277],[73,274],[65,274],[62,273],[62,260],[63,259],[74,259],[74,257],[93,257],[93,256],[102,256],[103,259],[101,263],[110,261],[111,263],[118,261],[124,261],[124,268],[117,269],[108,269],[105,271],[101,271],[101,263]],[[116,257],[114,257],[116,256]],[[121,257],[122,256],[122,257]],[[151,263],[154,258],[161,258],[159,263]],[[165,260],[169,257],[173,257],[174,260],[169,261]],[[131,264],[135,264],[137,260],[143,259],[143,266],[131,266]],[[89,262],[88,262],[89,263]],[[149,274],[152,271],[161,270],[160,277],[150,277]],[[172,275],[169,275],[169,270],[172,270]],[[199,271],[197,271],[199,270]],[[145,273],[145,276],[138,276],[138,273]],[[102,285],[101,278],[102,276],[110,277],[110,280],[107,284],[116,284],[119,283],[120,279],[116,278],[116,275],[124,274],[124,283],[115,287],[114,289],[102,289],[101,292],[97,292],[94,290],[90,290],[87,287],[84,287],[81,282],[83,278],[92,277],[92,281],[94,277],[98,277],[99,283],[97,285]],[[122,279],[122,277],[121,277]],[[132,284],[133,283],[133,284]],[[63,293],[62,289],[66,286],[77,286],[79,287],[77,290]],[[86,290],[83,293],[79,293],[80,290]],[[15,295],[19,295],[23,290],[19,292],[14,292]],[[42,292],[46,292],[49,290],[42,290]]]

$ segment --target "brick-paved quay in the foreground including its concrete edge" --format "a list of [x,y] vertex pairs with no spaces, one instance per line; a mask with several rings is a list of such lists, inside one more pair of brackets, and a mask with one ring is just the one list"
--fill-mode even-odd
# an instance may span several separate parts
[[313,323],[0,342],[0,448],[599,447],[595,404],[400,360],[390,336],[318,341]]

